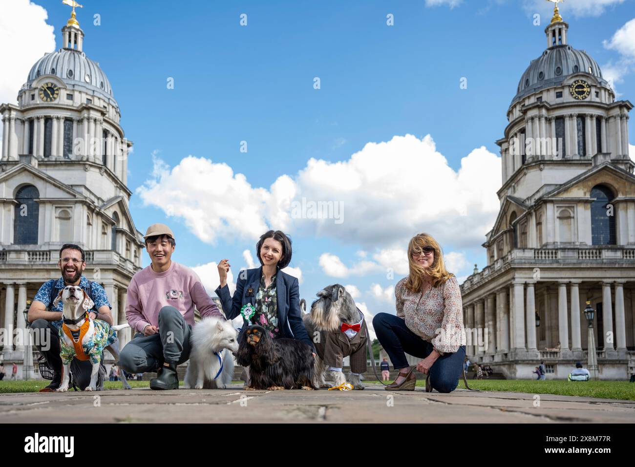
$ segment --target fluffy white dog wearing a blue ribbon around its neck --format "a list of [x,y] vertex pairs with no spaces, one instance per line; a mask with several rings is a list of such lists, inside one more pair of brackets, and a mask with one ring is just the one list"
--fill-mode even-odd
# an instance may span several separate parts
[[184,387],[225,389],[234,375],[232,353],[238,350],[238,332],[231,321],[204,318],[194,325],[192,350],[185,372]]

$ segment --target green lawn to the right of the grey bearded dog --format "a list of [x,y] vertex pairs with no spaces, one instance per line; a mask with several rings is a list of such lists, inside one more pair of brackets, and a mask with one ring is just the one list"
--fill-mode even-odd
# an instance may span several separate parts
[[[364,384],[380,384],[380,382],[364,379]],[[481,389],[481,391],[511,391],[516,393],[635,400],[635,383],[628,381],[468,379],[467,384],[469,384],[470,388]],[[417,379],[417,388],[420,387],[425,388],[425,379],[423,378]],[[458,382],[457,389],[465,389],[462,379]]]

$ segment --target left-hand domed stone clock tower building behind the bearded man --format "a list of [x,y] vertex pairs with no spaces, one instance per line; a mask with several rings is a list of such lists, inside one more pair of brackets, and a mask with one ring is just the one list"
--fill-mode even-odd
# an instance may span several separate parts
[[[84,53],[75,11],[62,48],[37,60],[17,104],[0,105],[0,323],[25,327],[25,309],[44,281],[60,277],[59,249],[86,250],[84,276],[104,285],[115,323],[125,322],[128,283],[144,243],[128,210],[132,142],[105,72]],[[120,346],[130,330],[120,333]],[[23,346],[0,342],[0,361],[23,360]],[[27,369],[31,371],[31,369]]]

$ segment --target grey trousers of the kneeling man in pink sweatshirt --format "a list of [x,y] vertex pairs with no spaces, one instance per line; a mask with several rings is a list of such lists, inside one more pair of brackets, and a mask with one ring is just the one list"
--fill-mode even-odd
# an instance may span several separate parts
[[119,367],[136,374],[155,372],[164,362],[187,362],[191,330],[178,309],[164,306],[159,311],[159,334],[135,334],[119,354]]

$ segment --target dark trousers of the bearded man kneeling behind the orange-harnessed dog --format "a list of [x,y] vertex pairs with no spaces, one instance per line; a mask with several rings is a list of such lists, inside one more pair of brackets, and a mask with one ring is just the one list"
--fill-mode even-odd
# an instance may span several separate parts
[[[40,351],[44,358],[46,359],[46,363],[51,369],[58,375],[62,375],[62,358],[60,357],[60,351],[62,350],[60,346],[60,335],[58,328],[53,326],[51,321],[46,321],[44,318],[39,318],[39,320],[35,320],[31,323],[31,328],[34,332],[41,332],[39,339],[36,339],[37,342],[50,342],[49,349],[43,350],[42,346],[37,346],[37,349]],[[97,376],[97,387],[103,387],[104,379],[106,375],[106,367],[104,367],[104,355],[102,354],[102,362],[100,362],[99,366],[99,374]],[[73,358],[70,362],[70,374],[72,375],[73,382],[77,385],[79,389],[82,391],[88,387],[90,384],[90,375],[93,372],[93,364],[90,363],[90,360],[77,360],[77,358]]]

